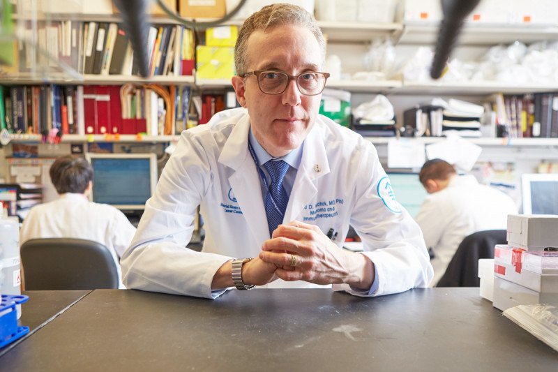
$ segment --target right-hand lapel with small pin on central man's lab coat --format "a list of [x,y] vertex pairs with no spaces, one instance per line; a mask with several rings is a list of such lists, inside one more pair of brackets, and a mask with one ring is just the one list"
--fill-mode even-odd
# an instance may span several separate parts
[[317,179],[330,172],[324,137],[324,126],[317,119],[304,141],[301,165],[296,172],[283,223],[289,223],[301,214],[304,206],[317,195]]

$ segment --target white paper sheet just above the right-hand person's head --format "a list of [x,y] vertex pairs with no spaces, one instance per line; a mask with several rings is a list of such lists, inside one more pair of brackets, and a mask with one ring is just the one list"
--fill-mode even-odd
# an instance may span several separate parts
[[473,169],[473,165],[482,151],[482,147],[458,135],[450,135],[445,141],[429,144],[426,147],[426,156],[429,159],[442,159],[469,172]]

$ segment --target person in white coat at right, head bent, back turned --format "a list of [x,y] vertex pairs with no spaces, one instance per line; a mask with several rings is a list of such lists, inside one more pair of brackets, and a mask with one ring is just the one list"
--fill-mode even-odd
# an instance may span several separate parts
[[434,253],[430,262],[435,285],[467,235],[505,230],[508,214],[517,214],[518,208],[502,191],[479,184],[472,175],[458,176],[453,165],[442,159],[424,163],[418,177],[430,195],[415,219]]

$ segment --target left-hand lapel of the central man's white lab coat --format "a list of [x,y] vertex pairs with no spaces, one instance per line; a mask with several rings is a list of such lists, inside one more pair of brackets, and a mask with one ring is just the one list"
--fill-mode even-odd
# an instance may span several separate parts
[[229,135],[219,156],[219,163],[234,170],[229,177],[229,183],[236,202],[239,203],[252,235],[256,241],[262,242],[269,239],[269,229],[262,189],[259,187],[259,175],[254,159],[248,152],[248,128],[250,128],[250,118],[246,114]]

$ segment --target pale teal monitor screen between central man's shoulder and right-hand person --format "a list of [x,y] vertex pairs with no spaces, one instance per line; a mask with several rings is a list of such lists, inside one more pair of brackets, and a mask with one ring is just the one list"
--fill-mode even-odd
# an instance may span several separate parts
[[395,199],[415,218],[428,194],[418,180],[418,173],[388,172],[388,176]]

